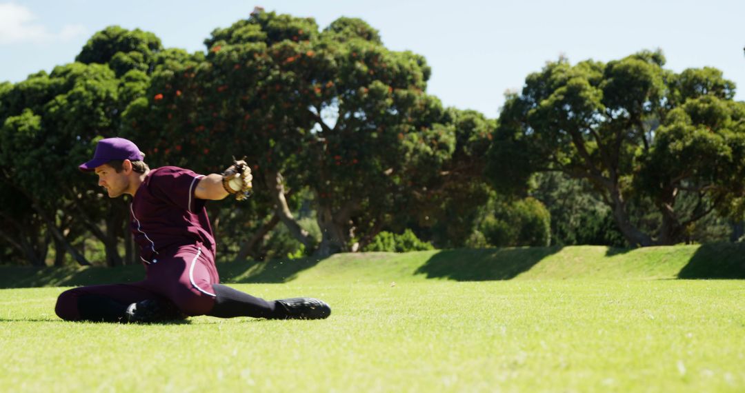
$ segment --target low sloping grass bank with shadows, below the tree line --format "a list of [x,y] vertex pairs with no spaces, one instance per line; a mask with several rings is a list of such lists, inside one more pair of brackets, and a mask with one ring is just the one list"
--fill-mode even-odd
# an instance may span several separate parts
[[[0,287],[56,287],[142,279],[142,266],[0,268]],[[611,249],[604,246],[340,254],[317,260],[218,263],[225,283],[510,279],[745,278],[745,244]]]

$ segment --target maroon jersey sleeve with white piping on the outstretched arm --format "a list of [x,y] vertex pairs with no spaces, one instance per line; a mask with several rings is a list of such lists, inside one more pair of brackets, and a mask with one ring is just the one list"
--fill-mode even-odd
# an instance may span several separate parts
[[180,167],[160,167],[150,179],[150,192],[153,196],[197,213],[204,207],[205,200],[194,197],[197,183],[204,175]]

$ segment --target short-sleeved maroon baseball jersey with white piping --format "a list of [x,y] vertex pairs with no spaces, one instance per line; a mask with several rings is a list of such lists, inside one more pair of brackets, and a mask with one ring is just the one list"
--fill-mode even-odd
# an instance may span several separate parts
[[215,254],[215,237],[194,189],[204,175],[180,167],[150,170],[130,205],[132,233],[145,263],[156,263],[178,246],[200,243]]

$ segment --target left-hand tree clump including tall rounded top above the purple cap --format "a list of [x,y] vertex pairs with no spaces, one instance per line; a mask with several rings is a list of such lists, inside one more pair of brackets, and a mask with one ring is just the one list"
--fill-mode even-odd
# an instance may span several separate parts
[[[104,196],[91,187],[95,183],[77,165],[92,156],[99,139],[120,135],[121,113],[145,91],[145,71],[159,50],[160,42],[151,33],[107,28],[83,48],[78,56],[83,63],[60,65],[51,74],[42,71],[21,83],[0,86],[2,178],[9,192],[28,199],[34,212],[23,221],[13,221],[12,214],[4,212],[6,223],[15,222],[12,227],[27,239],[23,243],[16,237],[12,243],[40,244],[37,249],[42,250],[53,241],[55,264],[62,263],[66,253],[89,264],[75,243],[93,234],[104,243],[108,265],[123,263],[118,245],[122,237],[127,243],[127,205],[121,200],[104,203]],[[30,240],[33,237],[46,243]],[[126,261],[133,261],[132,247],[126,250]],[[45,255],[45,250],[34,254]],[[43,263],[42,258],[32,261]]]

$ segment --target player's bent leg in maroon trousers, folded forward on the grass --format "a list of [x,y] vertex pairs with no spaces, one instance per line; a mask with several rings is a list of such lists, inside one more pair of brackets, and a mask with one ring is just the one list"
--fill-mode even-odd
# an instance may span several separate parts
[[170,301],[140,287],[139,283],[95,285],[66,290],[57,298],[54,311],[66,321],[128,322],[127,308],[139,301],[159,304],[159,310],[162,310],[159,320],[180,318]]

